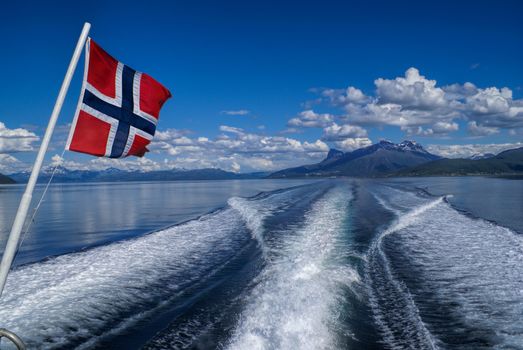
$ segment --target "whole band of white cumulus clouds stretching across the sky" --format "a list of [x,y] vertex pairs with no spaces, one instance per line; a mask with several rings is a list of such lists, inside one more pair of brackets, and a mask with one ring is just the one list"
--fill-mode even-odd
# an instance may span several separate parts
[[[221,125],[215,137],[195,136],[189,130],[158,130],[150,145],[149,157],[100,158],[83,163],[55,157],[52,162],[83,170],[108,167],[142,171],[174,167],[218,167],[236,172],[276,170],[319,161],[329,146],[344,151],[369,146],[368,131],[383,127],[398,128],[411,136],[447,139],[454,137],[460,126],[478,138],[502,132],[516,137],[523,130],[523,99],[515,98],[507,87],[482,88],[471,82],[439,86],[436,80],[425,77],[416,68],[407,69],[399,77],[377,78],[374,85],[374,91],[366,93],[355,86],[314,89],[317,99],[288,120],[285,130],[273,136],[265,135],[265,127],[261,125],[258,132]],[[242,116],[250,111],[220,113]],[[321,137],[305,140],[303,136],[297,139],[290,135],[310,135],[314,132],[311,129],[318,129]],[[8,129],[0,123],[0,154],[34,150],[37,141],[38,136],[29,130]],[[431,145],[429,151],[446,157],[467,157],[498,153],[518,145]],[[0,171],[20,168],[22,164],[5,155],[0,162],[3,162]]]

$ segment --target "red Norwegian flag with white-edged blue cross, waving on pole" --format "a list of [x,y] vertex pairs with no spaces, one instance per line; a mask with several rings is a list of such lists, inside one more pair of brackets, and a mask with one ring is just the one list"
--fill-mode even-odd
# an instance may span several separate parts
[[170,97],[163,85],[88,38],[82,93],[66,149],[109,158],[141,157]]

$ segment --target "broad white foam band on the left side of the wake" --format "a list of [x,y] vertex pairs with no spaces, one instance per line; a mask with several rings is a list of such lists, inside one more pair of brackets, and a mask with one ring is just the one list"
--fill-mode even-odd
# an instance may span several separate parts
[[[29,348],[93,345],[161,307],[248,239],[231,209],[138,239],[59,256],[9,275],[2,327]],[[74,234],[74,233],[72,233]]]

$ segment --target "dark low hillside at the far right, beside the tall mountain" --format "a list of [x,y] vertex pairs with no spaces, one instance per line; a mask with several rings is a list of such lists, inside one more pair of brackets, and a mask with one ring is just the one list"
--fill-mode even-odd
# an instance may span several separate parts
[[439,159],[410,169],[398,176],[464,176],[523,174],[523,147],[501,152],[497,156],[473,159]]

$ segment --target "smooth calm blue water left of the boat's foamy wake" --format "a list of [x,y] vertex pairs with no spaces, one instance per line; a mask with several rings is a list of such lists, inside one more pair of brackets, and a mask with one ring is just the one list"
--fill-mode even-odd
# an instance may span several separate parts
[[[252,196],[261,191],[308,182],[311,181],[53,184],[15,264],[38,261],[47,256],[144,234],[222,207],[232,196]],[[2,250],[24,188],[23,185],[0,186]],[[42,191],[43,186],[37,186],[34,203],[40,198]]]

